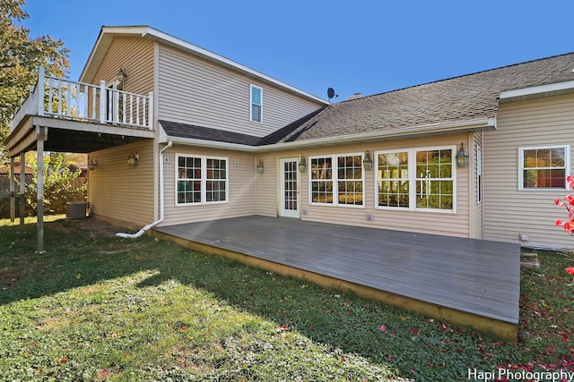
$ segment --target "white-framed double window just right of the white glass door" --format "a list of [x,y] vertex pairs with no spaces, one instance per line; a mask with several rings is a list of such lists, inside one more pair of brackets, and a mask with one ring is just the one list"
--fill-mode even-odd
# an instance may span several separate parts
[[363,206],[362,155],[311,157],[310,204]]

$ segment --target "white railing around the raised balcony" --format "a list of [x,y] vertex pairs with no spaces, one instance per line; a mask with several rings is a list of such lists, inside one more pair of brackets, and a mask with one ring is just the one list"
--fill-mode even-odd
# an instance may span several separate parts
[[39,68],[38,83],[12,119],[12,131],[26,115],[74,121],[153,128],[153,93],[147,96],[100,85],[46,75]]

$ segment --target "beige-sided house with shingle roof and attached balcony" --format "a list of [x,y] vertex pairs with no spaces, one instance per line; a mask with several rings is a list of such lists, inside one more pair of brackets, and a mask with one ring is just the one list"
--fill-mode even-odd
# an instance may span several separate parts
[[285,216],[572,249],[552,201],[573,69],[570,53],[331,105],[159,30],[103,27],[79,81],[40,73],[6,146],[88,153],[92,215],[135,228]]

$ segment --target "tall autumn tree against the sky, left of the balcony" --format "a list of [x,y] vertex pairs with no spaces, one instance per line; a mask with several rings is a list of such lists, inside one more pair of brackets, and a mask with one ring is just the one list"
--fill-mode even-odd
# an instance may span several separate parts
[[22,21],[30,17],[22,10],[25,0],[0,1],[0,158],[4,158],[4,140],[10,122],[30,86],[38,81],[39,66],[48,74],[63,77],[69,73],[69,50],[62,40],[50,36],[30,38]]

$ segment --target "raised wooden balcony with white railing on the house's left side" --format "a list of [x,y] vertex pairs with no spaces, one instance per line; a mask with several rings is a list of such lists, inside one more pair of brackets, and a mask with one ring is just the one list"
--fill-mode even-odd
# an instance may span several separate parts
[[130,93],[105,81],[70,81],[40,68],[37,84],[13,115],[6,140],[10,157],[34,149],[39,127],[49,129],[45,140],[51,151],[86,153],[151,139],[153,93]]

